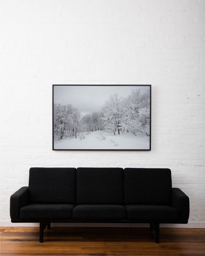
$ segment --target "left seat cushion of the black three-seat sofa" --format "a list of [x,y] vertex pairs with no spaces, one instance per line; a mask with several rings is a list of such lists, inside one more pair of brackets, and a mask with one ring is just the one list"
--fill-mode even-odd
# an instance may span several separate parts
[[22,220],[72,219],[72,204],[28,204],[20,209]]

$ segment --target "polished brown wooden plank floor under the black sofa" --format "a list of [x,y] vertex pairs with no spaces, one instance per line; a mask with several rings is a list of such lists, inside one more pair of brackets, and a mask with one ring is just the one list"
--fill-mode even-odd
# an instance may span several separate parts
[[52,227],[39,243],[37,227],[2,227],[1,256],[205,255],[205,229],[160,229],[160,243],[149,228]]

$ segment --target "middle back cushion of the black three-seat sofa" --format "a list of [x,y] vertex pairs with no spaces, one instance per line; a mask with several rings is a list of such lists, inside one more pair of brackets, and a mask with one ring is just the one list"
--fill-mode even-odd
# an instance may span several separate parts
[[77,168],[77,204],[123,204],[122,168]]

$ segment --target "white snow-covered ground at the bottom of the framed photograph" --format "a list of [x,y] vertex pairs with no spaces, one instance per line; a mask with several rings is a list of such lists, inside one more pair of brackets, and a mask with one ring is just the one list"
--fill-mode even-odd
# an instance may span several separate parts
[[[150,137],[146,135],[133,135],[131,132],[124,134],[106,133],[106,139],[101,139],[99,131],[90,132],[85,136],[85,139],[81,140],[63,138],[61,141],[54,141],[54,149],[78,149],[78,150],[118,150],[118,149],[130,149],[130,150],[141,150],[149,149]],[[113,142],[112,142],[113,141]],[[118,144],[116,146],[116,144]]]

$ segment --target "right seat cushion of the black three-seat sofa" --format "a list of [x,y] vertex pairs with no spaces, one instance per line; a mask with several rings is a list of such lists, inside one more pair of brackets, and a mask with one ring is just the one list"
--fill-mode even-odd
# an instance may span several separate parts
[[128,220],[177,220],[178,209],[163,205],[126,205]]

